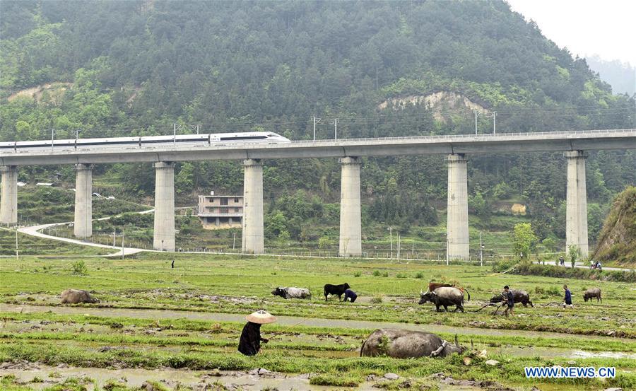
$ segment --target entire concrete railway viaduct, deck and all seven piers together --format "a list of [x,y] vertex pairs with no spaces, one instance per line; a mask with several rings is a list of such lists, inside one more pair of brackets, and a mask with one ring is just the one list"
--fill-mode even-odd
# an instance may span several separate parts
[[[0,155],[2,189],[0,223],[18,221],[17,180],[20,165],[74,164],[75,235],[92,235],[92,169],[95,164],[153,162],[155,168],[156,250],[175,250],[174,162],[242,160],[245,174],[242,252],[264,252],[263,161],[279,158],[338,158],[341,163],[341,257],[362,255],[360,158],[442,154],[448,165],[447,252],[450,259],[469,257],[467,155],[477,153],[563,152],[567,161],[566,248],[577,245],[588,255],[585,151],[636,149],[636,129],[536,132],[481,135],[416,136],[380,139],[291,141],[281,144],[213,144],[212,146],[130,146],[25,148]],[[636,167],[634,168],[636,170]]]

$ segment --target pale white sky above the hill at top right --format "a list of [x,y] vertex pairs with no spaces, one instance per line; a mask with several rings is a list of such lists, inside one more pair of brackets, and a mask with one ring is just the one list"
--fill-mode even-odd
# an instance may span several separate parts
[[579,57],[636,65],[635,0],[507,0],[543,35]]

